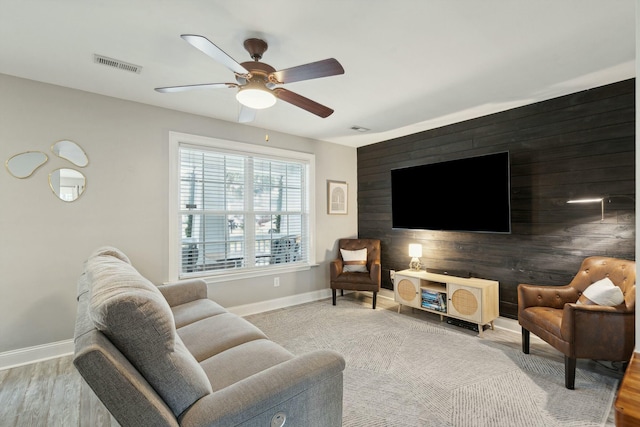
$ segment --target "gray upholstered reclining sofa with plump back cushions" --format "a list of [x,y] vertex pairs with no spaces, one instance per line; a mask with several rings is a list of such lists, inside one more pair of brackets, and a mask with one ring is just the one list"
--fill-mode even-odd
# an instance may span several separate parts
[[74,364],[122,426],[342,425],[340,354],[293,355],[205,282],[155,286],[116,248],[78,282]]

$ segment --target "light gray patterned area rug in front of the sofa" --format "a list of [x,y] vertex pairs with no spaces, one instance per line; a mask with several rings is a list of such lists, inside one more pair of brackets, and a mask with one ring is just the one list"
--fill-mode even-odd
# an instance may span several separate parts
[[345,427],[602,426],[618,382],[579,368],[567,390],[560,361],[351,298],[247,320],[293,353],[345,357]]

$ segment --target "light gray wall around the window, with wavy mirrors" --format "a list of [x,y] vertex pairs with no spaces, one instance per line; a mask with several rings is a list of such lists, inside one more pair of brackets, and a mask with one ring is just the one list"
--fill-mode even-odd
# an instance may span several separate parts
[[[318,266],[299,273],[210,285],[227,307],[328,288],[338,238],[357,234],[356,150],[291,135],[0,75],[0,159],[43,151],[27,179],[0,171],[0,353],[73,337],[76,281],[86,257],[113,245],[154,283],[168,280],[168,133],[177,131],[316,155]],[[53,196],[48,173],[69,166],[49,147],[61,139],[89,156],[86,193]],[[326,180],[347,181],[349,215],[326,214]]]

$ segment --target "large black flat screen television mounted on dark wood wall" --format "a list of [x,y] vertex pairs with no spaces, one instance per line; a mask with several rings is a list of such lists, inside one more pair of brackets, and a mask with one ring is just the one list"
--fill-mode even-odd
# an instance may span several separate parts
[[511,232],[509,152],[391,170],[397,229]]

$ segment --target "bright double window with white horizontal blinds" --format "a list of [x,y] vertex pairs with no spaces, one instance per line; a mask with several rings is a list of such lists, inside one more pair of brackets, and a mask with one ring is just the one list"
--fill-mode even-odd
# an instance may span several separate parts
[[177,133],[170,140],[172,277],[309,267],[313,155]]

